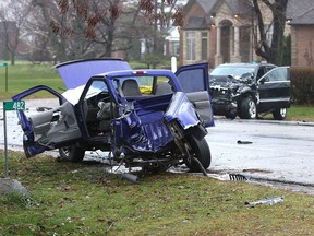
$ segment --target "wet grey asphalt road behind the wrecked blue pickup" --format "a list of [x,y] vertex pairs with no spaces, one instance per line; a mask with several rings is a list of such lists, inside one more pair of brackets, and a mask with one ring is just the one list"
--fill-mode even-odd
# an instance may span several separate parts
[[[51,103],[51,99],[26,101],[26,113],[34,113],[38,106],[49,107]],[[1,102],[1,149],[4,146],[2,105]],[[16,114],[5,114],[8,148],[21,150],[22,130]],[[314,189],[314,123],[224,118],[215,122],[206,137],[212,152],[209,173],[225,179],[228,174],[241,174],[252,179],[295,182],[306,185],[310,191]]]

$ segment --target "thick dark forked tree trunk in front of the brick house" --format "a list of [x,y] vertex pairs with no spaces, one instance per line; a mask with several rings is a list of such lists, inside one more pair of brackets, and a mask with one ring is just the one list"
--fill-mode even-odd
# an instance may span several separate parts
[[[252,0],[252,3],[257,17],[258,31],[254,37],[255,52],[270,63],[281,64],[288,0]],[[261,4],[265,4],[271,12],[270,25],[265,24]],[[273,32],[270,44],[267,38],[269,31]]]

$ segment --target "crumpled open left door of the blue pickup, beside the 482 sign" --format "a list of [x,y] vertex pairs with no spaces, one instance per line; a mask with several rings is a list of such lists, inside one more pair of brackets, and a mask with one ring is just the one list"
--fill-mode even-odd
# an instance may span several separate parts
[[17,111],[24,132],[23,148],[26,157],[75,143],[81,138],[74,106],[52,88],[40,85],[24,91],[12,98],[13,101],[21,101],[40,91],[51,93],[56,97],[56,104],[43,108],[43,111],[31,114],[26,114],[24,110]]

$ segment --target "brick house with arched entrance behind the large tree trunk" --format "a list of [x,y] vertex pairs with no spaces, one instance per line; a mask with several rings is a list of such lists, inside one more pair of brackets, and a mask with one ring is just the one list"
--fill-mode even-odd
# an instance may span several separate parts
[[[269,9],[264,8],[261,5],[264,22],[270,25]],[[208,62],[214,68],[225,62],[261,60],[254,51],[254,12],[247,0],[189,0],[183,11],[180,64]],[[314,63],[314,5],[311,0],[289,0],[286,34],[290,33],[292,66]],[[268,39],[271,39],[271,30]]]

